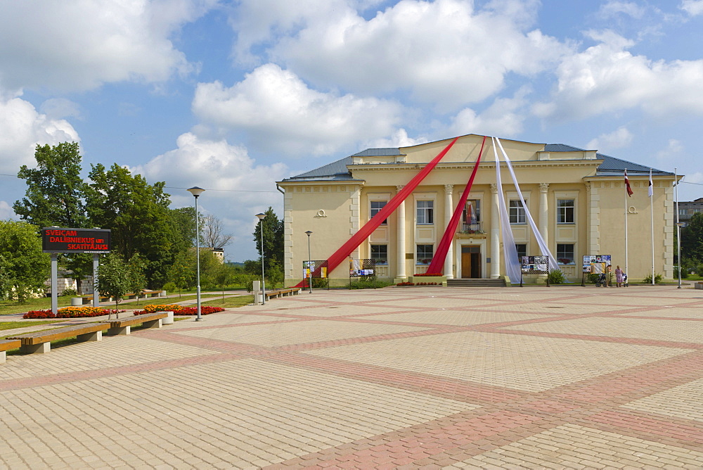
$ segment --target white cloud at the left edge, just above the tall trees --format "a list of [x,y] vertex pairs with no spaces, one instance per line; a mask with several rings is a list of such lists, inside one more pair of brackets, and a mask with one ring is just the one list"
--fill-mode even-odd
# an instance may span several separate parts
[[37,144],[56,145],[80,141],[67,121],[37,113],[31,103],[12,98],[0,100],[0,172],[16,174],[20,165],[34,165]]

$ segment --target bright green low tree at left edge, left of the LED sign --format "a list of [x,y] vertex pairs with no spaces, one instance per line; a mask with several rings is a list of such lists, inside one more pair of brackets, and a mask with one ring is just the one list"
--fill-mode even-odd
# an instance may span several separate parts
[[51,271],[51,258],[41,252],[37,226],[27,222],[0,220],[0,257],[6,279],[4,298],[23,303],[32,293],[44,291]]

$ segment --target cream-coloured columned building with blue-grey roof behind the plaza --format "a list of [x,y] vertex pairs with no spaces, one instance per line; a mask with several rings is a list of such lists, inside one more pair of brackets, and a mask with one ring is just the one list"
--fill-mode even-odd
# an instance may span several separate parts
[[[310,256],[326,260],[385,203],[418,174],[453,139],[401,148],[369,148],[342,160],[278,182],[285,191],[285,279],[302,279]],[[385,223],[356,248],[351,258],[373,258],[378,277],[401,281],[425,272],[449,224],[476,163],[483,136],[461,136]],[[562,144],[502,140],[538,230],[568,279],[581,280],[583,255],[612,255],[612,264],[627,265],[634,281],[654,271],[673,277],[674,174],[652,169],[653,196],[648,196],[650,168],[595,150]],[[501,155],[498,150],[498,155]],[[626,196],[624,170],[633,195]],[[446,257],[451,278],[505,276],[498,190],[503,191],[510,228],[519,255],[540,255],[526,213],[501,158],[503,187],[496,185],[491,139],[462,220]],[[625,210],[627,208],[627,253]],[[330,274],[332,284],[349,279],[342,262]]]

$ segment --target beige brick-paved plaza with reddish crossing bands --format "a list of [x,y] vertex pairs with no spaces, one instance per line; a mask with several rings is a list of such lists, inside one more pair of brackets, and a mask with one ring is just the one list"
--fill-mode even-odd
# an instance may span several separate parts
[[703,468],[703,291],[314,291],[0,364],[0,468]]

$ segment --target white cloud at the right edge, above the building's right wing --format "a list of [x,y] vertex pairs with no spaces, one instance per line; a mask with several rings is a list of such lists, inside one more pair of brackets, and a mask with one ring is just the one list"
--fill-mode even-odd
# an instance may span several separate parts
[[600,43],[565,58],[543,118],[583,119],[637,108],[657,117],[703,114],[703,61],[651,61],[633,56],[633,42],[612,32],[590,32]]

